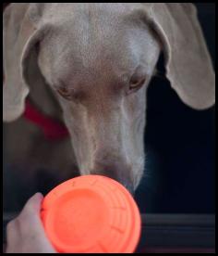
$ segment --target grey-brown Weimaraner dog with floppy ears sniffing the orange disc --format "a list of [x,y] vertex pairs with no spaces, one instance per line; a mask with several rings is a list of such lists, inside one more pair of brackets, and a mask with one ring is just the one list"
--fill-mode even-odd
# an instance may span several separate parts
[[[146,91],[161,52],[185,104],[215,103],[212,60],[191,4],[14,3],[3,34],[6,152],[26,166],[26,177],[39,167],[67,175],[76,164],[80,174],[108,175],[135,190],[144,169]],[[67,139],[49,143],[23,118],[28,95],[65,122]]]

